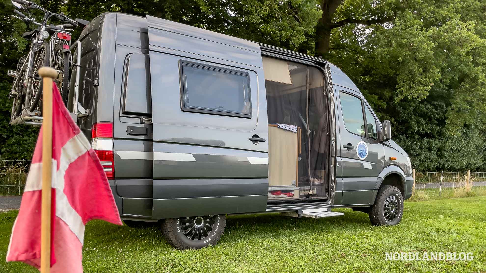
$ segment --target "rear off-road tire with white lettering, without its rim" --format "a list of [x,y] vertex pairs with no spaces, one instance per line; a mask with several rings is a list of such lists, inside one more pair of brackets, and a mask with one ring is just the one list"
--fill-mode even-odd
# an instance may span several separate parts
[[213,229],[202,240],[191,240],[184,235],[180,222],[183,217],[166,219],[161,225],[162,233],[167,242],[177,249],[200,249],[208,245],[216,245],[225,231],[226,215],[215,216]]

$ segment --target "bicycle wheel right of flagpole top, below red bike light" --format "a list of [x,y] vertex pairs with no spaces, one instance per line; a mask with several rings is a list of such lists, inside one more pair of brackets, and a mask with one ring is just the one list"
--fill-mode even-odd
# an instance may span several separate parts
[[68,103],[69,93],[69,52],[63,52],[62,44],[57,44],[54,47],[54,64],[52,67],[57,70],[59,76],[54,79],[57,89],[61,93],[64,105]]

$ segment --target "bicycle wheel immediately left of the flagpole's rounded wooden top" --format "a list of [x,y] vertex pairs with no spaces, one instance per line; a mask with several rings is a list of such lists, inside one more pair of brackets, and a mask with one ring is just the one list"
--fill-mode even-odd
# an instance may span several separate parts
[[25,107],[31,112],[42,110],[42,103],[39,103],[39,99],[42,95],[42,79],[39,76],[38,71],[42,66],[49,66],[50,54],[51,51],[49,50],[49,43],[47,42],[42,43],[35,53],[32,65],[32,78],[29,80],[25,98]]

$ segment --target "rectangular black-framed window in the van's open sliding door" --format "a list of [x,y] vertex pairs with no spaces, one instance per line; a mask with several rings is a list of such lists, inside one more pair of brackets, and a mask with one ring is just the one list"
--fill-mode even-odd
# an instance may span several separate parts
[[251,118],[249,74],[181,63],[182,110]]

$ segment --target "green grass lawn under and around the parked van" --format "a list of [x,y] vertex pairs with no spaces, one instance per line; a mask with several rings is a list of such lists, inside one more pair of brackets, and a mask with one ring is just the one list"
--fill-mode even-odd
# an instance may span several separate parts
[[[87,225],[85,272],[479,272],[486,273],[486,197],[405,202],[401,223],[368,215],[296,219],[231,216],[218,245],[174,250],[158,227]],[[5,255],[17,212],[0,213],[0,272],[38,272]],[[473,252],[472,261],[385,261],[385,252]]]

